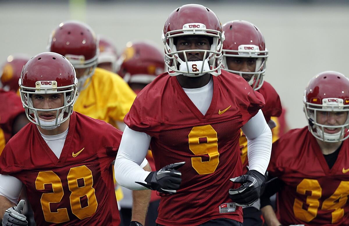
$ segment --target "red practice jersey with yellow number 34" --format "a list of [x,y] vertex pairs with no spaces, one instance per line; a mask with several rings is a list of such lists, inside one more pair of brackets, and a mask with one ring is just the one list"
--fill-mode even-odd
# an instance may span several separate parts
[[268,171],[284,182],[277,200],[283,225],[349,225],[349,140],[329,169],[307,127],[293,129],[273,144]]

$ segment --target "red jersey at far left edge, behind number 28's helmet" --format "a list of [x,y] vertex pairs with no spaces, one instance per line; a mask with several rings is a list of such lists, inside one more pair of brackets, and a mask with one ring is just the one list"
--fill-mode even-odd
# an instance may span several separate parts
[[13,121],[24,113],[21,98],[15,92],[0,89],[0,153],[12,137]]

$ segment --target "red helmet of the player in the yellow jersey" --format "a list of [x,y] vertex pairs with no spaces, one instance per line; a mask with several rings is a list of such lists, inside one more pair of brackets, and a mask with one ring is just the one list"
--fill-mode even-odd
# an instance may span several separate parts
[[97,66],[98,40],[95,32],[82,22],[68,21],[60,23],[52,32],[48,50],[65,56],[75,69],[86,69],[79,77],[79,90],[88,86]]

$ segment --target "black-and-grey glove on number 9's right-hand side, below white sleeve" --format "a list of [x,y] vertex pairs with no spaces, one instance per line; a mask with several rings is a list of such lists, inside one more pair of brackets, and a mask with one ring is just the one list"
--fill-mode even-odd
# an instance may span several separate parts
[[229,189],[229,198],[238,206],[251,206],[260,196],[260,189],[265,176],[256,170],[249,170],[245,175],[231,178],[233,183],[241,183],[236,189]]

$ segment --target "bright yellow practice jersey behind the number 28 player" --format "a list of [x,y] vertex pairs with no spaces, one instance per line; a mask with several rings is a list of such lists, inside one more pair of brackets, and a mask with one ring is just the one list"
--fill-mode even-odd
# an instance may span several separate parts
[[[96,68],[90,84],[78,93],[74,111],[110,123],[123,121],[136,94],[117,74]],[[88,81],[87,81],[88,82]]]

